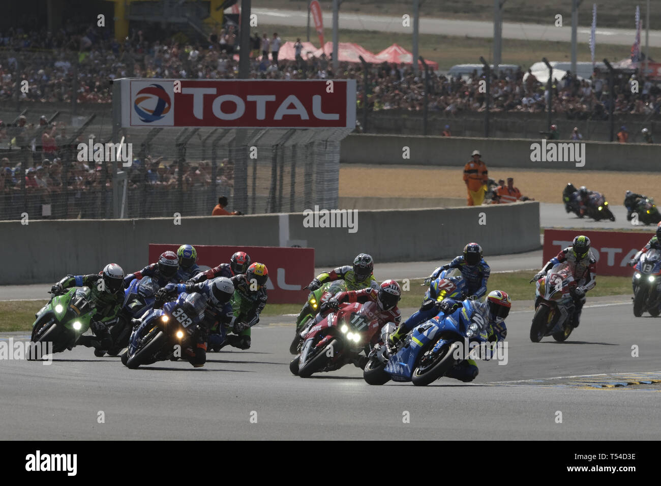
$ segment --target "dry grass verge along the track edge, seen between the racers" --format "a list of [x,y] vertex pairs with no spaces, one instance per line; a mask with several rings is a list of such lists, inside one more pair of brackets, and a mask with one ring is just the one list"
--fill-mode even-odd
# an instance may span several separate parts
[[[535,285],[528,283],[533,275],[534,272],[527,270],[494,273],[489,278],[488,290],[504,290],[515,301],[533,300],[535,298]],[[403,282],[400,280],[399,284],[403,285]],[[403,292],[399,307],[404,309],[420,305],[426,290],[420,284],[422,284],[422,279],[410,280],[409,290]],[[625,294],[631,294],[631,278],[599,276],[597,286],[590,291],[588,298]],[[0,301],[0,332],[30,331],[34,322],[34,313],[45,303],[45,300]],[[262,315],[297,314],[302,305],[303,302],[300,304],[267,304]],[[292,322],[293,320],[292,317]]]

